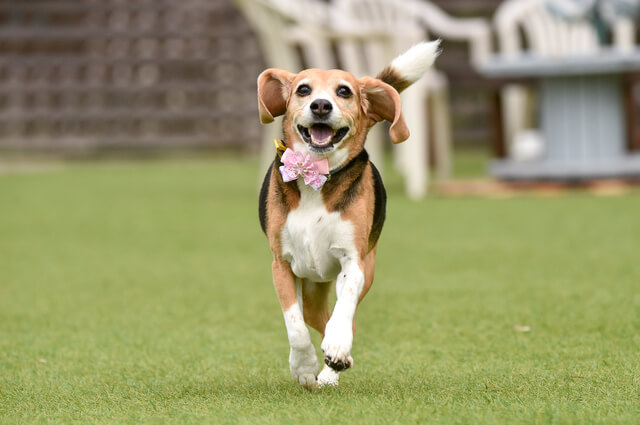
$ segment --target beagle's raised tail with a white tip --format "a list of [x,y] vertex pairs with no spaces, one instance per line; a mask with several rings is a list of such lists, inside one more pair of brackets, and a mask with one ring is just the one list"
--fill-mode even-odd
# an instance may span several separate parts
[[440,54],[440,40],[418,43],[387,65],[376,76],[398,93],[415,83]]

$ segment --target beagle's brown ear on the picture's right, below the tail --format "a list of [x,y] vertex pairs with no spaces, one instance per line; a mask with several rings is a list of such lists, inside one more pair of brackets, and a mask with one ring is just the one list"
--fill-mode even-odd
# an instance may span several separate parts
[[360,80],[362,102],[369,117],[369,126],[382,120],[391,123],[389,137],[393,143],[401,143],[409,138],[409,129],[402,115],[400,95],[389,84],[377,78],[362,77]]

